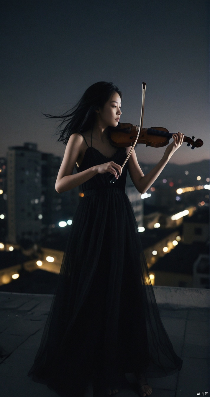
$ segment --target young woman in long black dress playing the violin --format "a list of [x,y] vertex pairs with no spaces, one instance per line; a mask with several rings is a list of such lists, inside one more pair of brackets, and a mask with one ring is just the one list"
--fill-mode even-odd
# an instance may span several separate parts
[[109,127],[120,120],[121,100],[118,87],[101,81],[86,90],[69,114],[58,117],[58,140],[66,150],[55,189],[62,193],[82,185],[84,198],[29,375],[61,396],[83,397],[88,382],[99,396],[116,394],[126,373],[135,374],[139,396],[148,396],[152,389],[146,376],[181,369],[182,360],[160,320],[125,183],[128,170],[136,189],[146,192],[181,146],[183,134],[173,135],[147,175],[135,151],[122,170],[130,148],[116,149],[109,136]]

